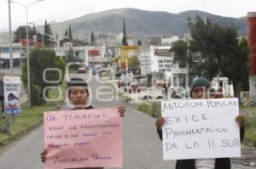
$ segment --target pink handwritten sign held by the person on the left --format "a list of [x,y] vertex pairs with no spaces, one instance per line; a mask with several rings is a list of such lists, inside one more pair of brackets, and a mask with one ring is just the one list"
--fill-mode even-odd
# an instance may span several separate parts
[[123,166],[117,109],[44,112],[45,168]]

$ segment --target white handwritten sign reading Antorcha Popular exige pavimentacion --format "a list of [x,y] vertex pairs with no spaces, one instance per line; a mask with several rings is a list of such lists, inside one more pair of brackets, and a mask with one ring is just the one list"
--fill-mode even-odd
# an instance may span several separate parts
[[241,156],[237,99],[161,102],[164,160]]

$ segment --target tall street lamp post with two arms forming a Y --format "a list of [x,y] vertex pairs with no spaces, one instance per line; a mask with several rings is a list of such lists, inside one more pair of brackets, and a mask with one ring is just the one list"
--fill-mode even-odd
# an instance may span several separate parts
[[26,8],[26,71],[27,71],[27,102],[28,102],[28,108],[31,109],[31,87],[30,87],[30,65],[29,65],[29,49],[28,49],[28,23],[27,23],[27,8],[32,6],[32,4],[34,3],[38,3],[40,1],[44,1],[44,0],[37,0],[33,3],[30,3],[28,5],[24,5],[22,3],[17,3],[15,1],[10,1],[10,3],[16,3],[19,4],[20,6]]

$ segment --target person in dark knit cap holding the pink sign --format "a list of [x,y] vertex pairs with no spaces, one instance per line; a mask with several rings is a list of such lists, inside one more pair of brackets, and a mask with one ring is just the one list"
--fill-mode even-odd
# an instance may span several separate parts
[[[68,90],[68,99],[73,104],[73,110],[90,110],[93,109],[93,106],[87,105],[89,99],[89,90],[88,85],[84,82],[83,79],[80,78],[73,78],[70,82],[67,83],[67,90]],[[125,106],[119,105],[117,107],[119,115],[125,116]],[[43,153],[41,154],[41,160],[43,162],[47,161],[47,154],[48,151],[44,149]],[[103,169],[103,167],[83,167],[80,169]]]

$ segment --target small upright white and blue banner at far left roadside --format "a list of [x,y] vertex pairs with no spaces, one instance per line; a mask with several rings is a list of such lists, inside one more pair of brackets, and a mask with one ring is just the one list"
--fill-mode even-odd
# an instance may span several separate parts
[[20,77],[4,76],[4,111],[6,114],[20,113]]

